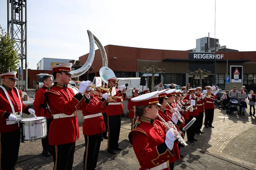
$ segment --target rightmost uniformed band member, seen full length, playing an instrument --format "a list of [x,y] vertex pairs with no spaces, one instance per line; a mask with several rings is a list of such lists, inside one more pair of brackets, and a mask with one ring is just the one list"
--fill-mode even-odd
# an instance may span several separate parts
[[214,96],[211,92],[211,86],[206,86],[205,89],[207,90],[207,95],[209,97],[205,97],[206,102],[204,102],[204,109],[205,109],[205,118],[204,118],[204,127],[212,127],[212,121],[214,116],[214,100],[217,99],[217,96]]

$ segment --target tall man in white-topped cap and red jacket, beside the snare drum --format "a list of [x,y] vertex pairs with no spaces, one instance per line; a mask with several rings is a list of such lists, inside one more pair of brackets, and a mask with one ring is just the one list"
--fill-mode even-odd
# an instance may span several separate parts
[[79,139],[76,111],[82,110],[90,101],[90,98],[87,99],[84,96],[90,81],[81,82],[79,93],[76,95],[71,88],[67,87],[73,74],[71,66],[72,63],[66,63],[50,67],[55,82],[44,93],[53,115],[49,128],[49,144],[52,145],[54,170],[72,170],[76,139]]

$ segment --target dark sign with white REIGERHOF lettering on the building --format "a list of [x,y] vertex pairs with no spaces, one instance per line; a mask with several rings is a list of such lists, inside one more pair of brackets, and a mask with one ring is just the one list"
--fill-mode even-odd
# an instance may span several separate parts
[[[223,59],[224,54],[217,54],[216,59]],[[189,59],[198,59],[198,60],[204,60],[204,59],[215,59],[214,53],[189,53]]]

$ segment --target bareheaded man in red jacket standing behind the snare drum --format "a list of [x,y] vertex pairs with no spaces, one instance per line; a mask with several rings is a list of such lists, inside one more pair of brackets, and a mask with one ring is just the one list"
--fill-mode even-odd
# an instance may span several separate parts
[[53,120],[52,113],[50,113],[46,100],[44,99],[44,92],[47,91],[47,88],[52,86],[52,76],[50,75],[45,75],[43,77],[43,82],[44,85],[42,88],[39,88],[38,91],[35,94],[35,100],[33,102],[33,106],[35,109],[35,114],[36,116],[43,116],[46,117],[46,122],[47,122],[47,136],[42,140],[42,146],[43,146],[43,152],[42,155],[49,157],[51,156],[51,148],[48,142],[48,134],[49,134],[49,127],[51,125],[51,122]]

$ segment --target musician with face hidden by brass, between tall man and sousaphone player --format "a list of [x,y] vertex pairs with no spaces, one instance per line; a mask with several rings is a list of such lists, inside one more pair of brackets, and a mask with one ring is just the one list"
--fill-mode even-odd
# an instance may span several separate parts
[[97,94],[90,93],[90,91],[88,93],[90,102],[86,109],[82,110],[84,116],[83,135],[85,139],[84,170],[95,170],[102,133],[105,132],[102,112],[108,105],[108,93],[102,94],[101,100],[99,100]]

